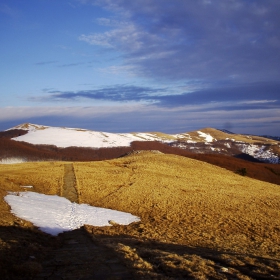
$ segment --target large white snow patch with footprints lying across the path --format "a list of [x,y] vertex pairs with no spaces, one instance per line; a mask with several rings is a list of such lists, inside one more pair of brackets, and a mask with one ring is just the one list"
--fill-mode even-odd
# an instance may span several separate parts
[[40,230],[51,235],[71,231],[84,224],[110,226],[110,220],[121,225],[140,221],[130,213],[76,204],[57,195],[19,192],[10,193],[4,199],[11,206],[13,214],[32,222]]

